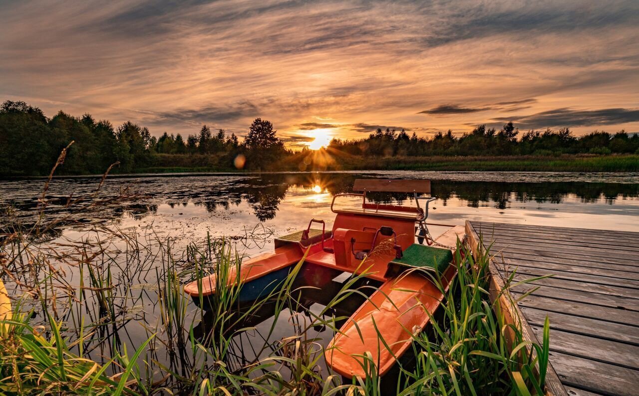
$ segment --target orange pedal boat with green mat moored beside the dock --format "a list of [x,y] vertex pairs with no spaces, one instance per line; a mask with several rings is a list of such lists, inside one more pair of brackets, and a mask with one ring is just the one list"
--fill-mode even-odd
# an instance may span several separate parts
[[[232,273],[229,282],[242,283],[240,303],[258,300],[281,287],[305,254],[305,264],[383,282],[344,323],[325,351],[328,365],[343,376],[366,377],[371,365],[383,376],[408,349],[413,335],[424,329],[444,298],[431,280],[432,272],[427,276],[410,268],[434,270],[434,276],[440,277],[447,289],[456,271],[450,265],[452,247],[463,238],[464,227],[452,227],[437,238],[441,248],[415,243],[415,237],[433,243],[426,238],[426,218],[428,204],[434,198],[419,196],[430,194],[429,180],[358,179],[353,190],[362,193],[333,197],[331,210],[336,216],[330,231],[323,220],[312,219],[307,229],[276,238],[275,252],[243,262],[240,274]],[[417,206],[374,204],[366,201],[367,192],[413,194]],[[335,200],[344,196],[362,197],[362,206],[336,209]],[[424,208],[419,205],[422,199],[426,200]],[[322,229],[312,229],[313,223],[321,224]],[[417,235],[416,229],[420,231]],[[321,288],[330,282],[330,278],[313,278],[309,273],[312,271],[304,271],[304,276],[310,277],[305,284]],[[210,275],[188,284],[184,291],[199,305],[215,294],[216,285],[215,275]]]

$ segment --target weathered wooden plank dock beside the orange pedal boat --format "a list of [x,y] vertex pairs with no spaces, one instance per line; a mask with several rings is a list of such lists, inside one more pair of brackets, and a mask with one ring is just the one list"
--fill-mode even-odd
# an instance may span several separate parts
[[495,287],[513,287],[523,333],[541,340],[550,318],[546,386],[553,395],[639,395],[639,232],[466,222],[474,248],[489,247]]

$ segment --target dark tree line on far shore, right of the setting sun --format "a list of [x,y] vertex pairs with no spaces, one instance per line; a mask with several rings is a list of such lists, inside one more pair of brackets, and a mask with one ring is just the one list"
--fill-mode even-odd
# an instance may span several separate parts
[[595,131],[581,137],[574,136],[569,128],[529,130],[519,138],[518,135],[520,131],[512,122],[500,130],[479,125],[460,137],[454,136],[452,130],[429,138],[418,137],[415,132],[409,136],[405,130],[378,128],[364,139],[333,139],[328,147],[350,155],[373,156],[639,154],[639,134],[631,136],[624,130],[614,134]]

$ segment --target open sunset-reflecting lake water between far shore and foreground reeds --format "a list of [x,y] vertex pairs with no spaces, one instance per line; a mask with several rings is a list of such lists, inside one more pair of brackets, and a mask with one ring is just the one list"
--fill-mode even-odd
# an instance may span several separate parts
[[[482,220],[589,229],[639,231],[639,175],[567,172],[331,172],[293,174],[220,174],[215,176],[134,176],[109,178],[96,199],[114,199],[125,189],[137,194],[108,209],[83,211],[114,221],[123,229],[153,227],[160,237],[178,240],[243,236],[256,225],[273,234],[305,227],[311,218],[331,222],[332,195],[351,192],[357,178],[432,180],[429,221],[464,224]],[[99,178],[54,179],[46,194],[49,217],[66,217],[71,199],[89,197]],[[36,214],[43,180],[0,181],[0,204],[15,206],[29,222]],[[410,201],[406,201],[412,204]],[[354,203],[354,201],[353,201]],[[0,222],[2,219],[0,218]],[[60,227],[67,235],[77,227]],[[267,248],[267,246],[265,246]],[[259,250],[259,247],[258,247]]]

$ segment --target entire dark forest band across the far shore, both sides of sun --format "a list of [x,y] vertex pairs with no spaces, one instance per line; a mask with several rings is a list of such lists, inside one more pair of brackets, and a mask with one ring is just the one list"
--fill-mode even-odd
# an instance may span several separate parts
[[[326,149],[293,152],[284,148],[272,123],[255,119],[242,141],[224,129],[201,127],[186,138],[164,133],[159,138],[148,128],[127,121],[114,127],[90,114],[73,117],[60,111],[47,118],[42,110],[24,102],[6,101],[0,107],[0,175],[48,174],[70,142],[59,174],[101,174],[111,164],[116,173],[180,170],[229,171],[235,169],[306,170],[341,169],[341,158],[420,158],[432,156],[558,156],[564,154],[639,154],[639,135],[592,132],[575,137],[569,128],[520,133],[513,123],[501,129],[479,125],[460,137],[452,131],[434,137],[408,135],[404,130],[377,129],[368,137],[334,139]],[[330,158],[327,160],[326,158]],[[319,164],[324,162],[324,164]],[[330,162],[330,166],[327,164]],[[298,164],[299,163],[299,164]],[[298,166],[298,165],[303,166]]]

